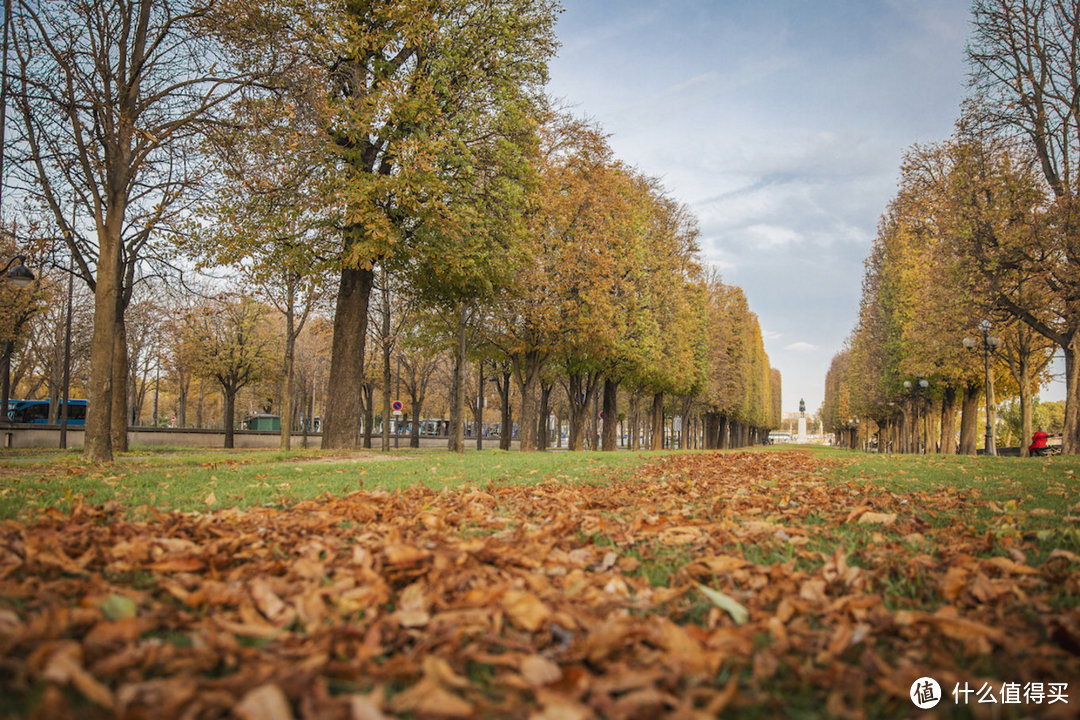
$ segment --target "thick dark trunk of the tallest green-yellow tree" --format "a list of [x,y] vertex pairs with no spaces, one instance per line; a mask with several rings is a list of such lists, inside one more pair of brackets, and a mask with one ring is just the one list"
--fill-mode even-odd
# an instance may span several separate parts
[[364,382],[364,340],[367,336],[367,303],[375,274],[369,268],[341,271],[334,311],[329,389],[323,411],[324,449],[357,448],[360,393]]

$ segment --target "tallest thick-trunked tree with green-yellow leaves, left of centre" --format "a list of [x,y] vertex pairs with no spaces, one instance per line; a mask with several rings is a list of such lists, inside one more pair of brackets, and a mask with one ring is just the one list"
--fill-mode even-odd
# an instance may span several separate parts
[[470,141],[494,109],[543,80],[554,16],[548,0],[378,0],[299,13],[305,53],[323,71],[322,127],[345,206],[324,447],[352,443],[374,263],[418,223],[455,217],[442,212],[454,196],[444,188],[470,166]]

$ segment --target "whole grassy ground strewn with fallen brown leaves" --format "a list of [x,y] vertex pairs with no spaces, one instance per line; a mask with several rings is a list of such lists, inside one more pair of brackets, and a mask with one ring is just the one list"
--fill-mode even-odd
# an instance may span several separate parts
[[918,717],[923,677],[941,717],[1080,704],[1078,459],[0,463],[0,717]]

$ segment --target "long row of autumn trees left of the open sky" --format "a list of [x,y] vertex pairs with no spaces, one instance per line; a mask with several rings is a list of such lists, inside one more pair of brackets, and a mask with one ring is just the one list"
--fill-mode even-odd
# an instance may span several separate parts
[[[93,294],[86,457],[126,448],[145,376],[133,308],[162,287],[180,298],[166,353],[180,413],[186,375],[220,386],[227,429],[237,393],[273,377],[286,447],[314,403],[297,343],[323,321],[325,448],[365,443],[376,389],[390,416],[394,364],[421,412],[426,358],[448,368],[451,450],[483,395],[470,372],[488,371],[523,450],[546,443],[556,386],[571,448],[591,407],[619,416],[620,391],[653,444],[665,409],[700,418],[704,446],[761,440],[780,377],[757,320],[703,270],[690,210],[545,95],[557,12],[16,0],[5,204],[14,242]],[[189,288],[195,271],[219,281]],[[9,359],[26,322],[5,322]],[[613,449],[615,427],[594,446]]]

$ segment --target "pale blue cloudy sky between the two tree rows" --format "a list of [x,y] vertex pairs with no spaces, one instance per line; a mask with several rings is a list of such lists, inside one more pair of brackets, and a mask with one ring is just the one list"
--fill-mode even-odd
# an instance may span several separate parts
[[970,0],[563,0],[549,92],[701,225],[816,411],[903,153],[953,132]]

